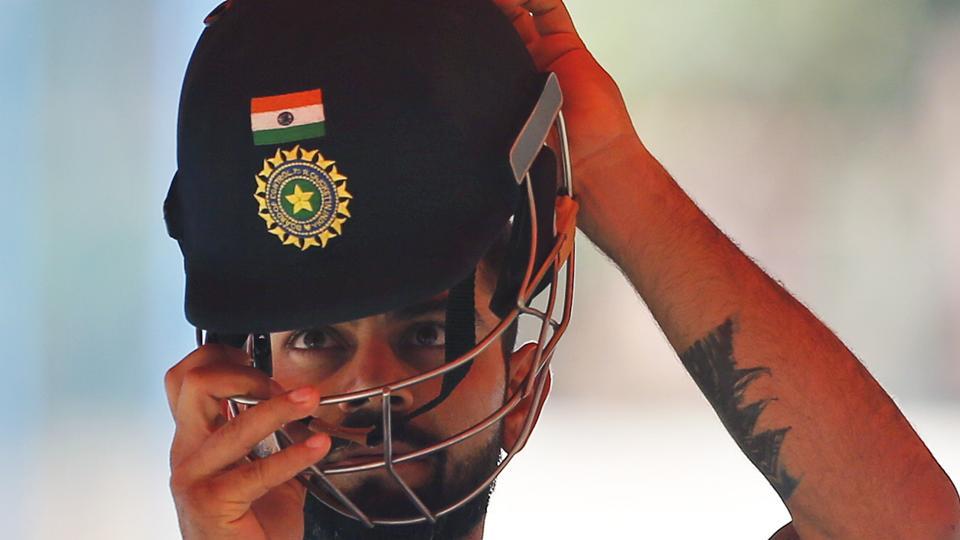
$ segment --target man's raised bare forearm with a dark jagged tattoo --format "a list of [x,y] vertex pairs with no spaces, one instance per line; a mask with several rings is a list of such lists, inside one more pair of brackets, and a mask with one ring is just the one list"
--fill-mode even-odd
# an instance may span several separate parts
[[582,227],[643,297],[803,538],[951,537],[956,490],[890,397],[639,141],[581,174]]

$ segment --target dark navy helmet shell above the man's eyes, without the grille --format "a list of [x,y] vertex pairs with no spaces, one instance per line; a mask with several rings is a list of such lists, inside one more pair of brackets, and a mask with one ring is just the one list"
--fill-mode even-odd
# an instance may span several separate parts
[[[518,206],[508,151],[541,86],[489,0],[233,2],[187,68],[164,204],[184,256],[187,319],[224,333],[282,331],[451,288]],[[315,90],[322,134],[256,144],[255,100]],[[290,211],[287,197],[313,192],[258,184],[304,150],[322,156],[327,180],[345,180],[301,212],[336,212],[349,199],[348,215],[333,218],[339,230],[328,225],[307,248],[271,232],[263,201]],[[346,195],[335,196],[341,185]]]

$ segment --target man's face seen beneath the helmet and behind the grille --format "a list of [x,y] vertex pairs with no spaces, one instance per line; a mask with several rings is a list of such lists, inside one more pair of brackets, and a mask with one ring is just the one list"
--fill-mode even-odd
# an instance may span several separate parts
[[[478,275],[478,278],[480,276]],[[489,309],[488,279],[477,280],[476,335],[486,336],[500,320]],[[306,384],[330,396],[405,379],[444,364],[447,294],[388,313],[326,327],[271,336],[274,378],[292,389]],[[402,455],[474,426],[500,408],[522,381],[526,362],[505,361],[499,341],[477,356],[466,377],[439,405],[406,416],[440,393],[442,377],[397,390],[391,395],[394,455]],[[508,383],[513,380],[514,382]],[[517,411],[519,413],[520,411]],[[379,396],[318,407],[322,423],[343,427],[381,427]],[[320,422],[315,429],[322,430]],[[446,450],[396,467],[401,478],[428,507],[438,510],[480,485],[496,467],[504,445],[503,426],[495,424]],[[335,439],[323,467],[349,466],[383,455],[382,443],[367,447]],[[331,476],[331,481],[375,518],[418,515],[399,485],[384,469]]]

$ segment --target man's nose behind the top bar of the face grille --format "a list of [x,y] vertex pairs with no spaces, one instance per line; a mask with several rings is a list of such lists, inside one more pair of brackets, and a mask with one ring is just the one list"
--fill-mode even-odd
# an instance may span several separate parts
[[[378,388],[390,383],[416,375],[416,372],[401,359],[387,344],[361,347],[350,361],[350,377],[345,392],[353,392],[368,388]],[[338,404],[340,410],[346,414],[353,414],[361,410],[380,413],[382,394],[369,398],[359,398],[344,401]],[[394,413],[405,413],[413,410],[414,396],[410,387],[390,392],[390,409]],[[375,411],[371,410],[375,409]]]

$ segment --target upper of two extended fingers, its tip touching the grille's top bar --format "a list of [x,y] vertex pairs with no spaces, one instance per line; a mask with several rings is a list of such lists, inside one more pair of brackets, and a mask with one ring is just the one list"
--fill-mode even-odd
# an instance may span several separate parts
[[209,476],[236,463],[257,443],[283,424],[308,416],[320,402],[320,392],[304,387],[247,409],[210,434],[183,466],[190,475]]

